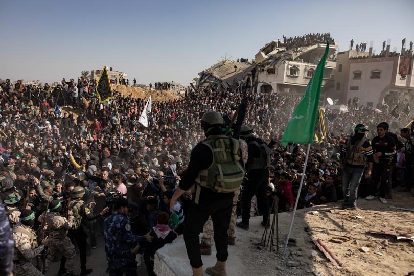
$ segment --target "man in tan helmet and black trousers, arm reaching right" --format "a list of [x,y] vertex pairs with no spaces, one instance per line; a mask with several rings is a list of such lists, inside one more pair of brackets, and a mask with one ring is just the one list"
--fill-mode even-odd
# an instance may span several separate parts
[[[71,203],[68,210],[73,212],[73,222],[72,228],[69,229],[67,236],[73,241],[76,240],[76,243],[79,246],[79,257],[81,263],[81,275],[88,275],[92,273],[92,269],[86,269],[86,234],[83,231],[82,219],[85,220],[94,220],[108,213],[109,208],[105,208],[98,214],[91,214],[89,208],[85,205],[82,200],[85,190],[77,186],[71,192]],[[65,269],[66,258],[63,256],[60,261],[59,274],[66,273]]]

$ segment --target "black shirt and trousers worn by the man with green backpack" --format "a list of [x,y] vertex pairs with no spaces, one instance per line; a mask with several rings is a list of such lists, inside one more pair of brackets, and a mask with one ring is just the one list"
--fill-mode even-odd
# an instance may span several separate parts
[[[181,177],[179,187],[188,190],[194,185],[195,179],[201,170],[205,170],[213,163],[213,153],[204,144],[197,144],[191,151],[190,163],[185,174]],[[184,241],[190,265],[199,268],[203,265],[200,254],[199,234],[209,216],[214,225],[214,241],[217,249],[217,260],[227,261],[228,257],[228,226],[233,208],[234,193],[216,193],[208,188],[201,189],[198,204],[190,203],[184,226]]]

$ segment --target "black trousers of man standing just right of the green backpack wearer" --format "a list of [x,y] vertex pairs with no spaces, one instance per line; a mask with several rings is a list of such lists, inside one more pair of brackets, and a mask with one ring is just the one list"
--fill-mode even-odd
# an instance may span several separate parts
[[250,170],[248,180],[243,185],[242,196],[242,222],[249,224],[251,198],[256,195],[259,214],[263,215],[263,221],[267,223],[269,217],[269,201],[266,197],[269,170]]

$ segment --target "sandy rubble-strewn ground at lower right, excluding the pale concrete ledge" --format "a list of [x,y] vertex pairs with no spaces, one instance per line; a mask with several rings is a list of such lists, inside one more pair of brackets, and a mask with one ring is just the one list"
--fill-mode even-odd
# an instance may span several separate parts
[[[340,204],[319,205],[312,209],[297,212],[292,236],[300,240],[300,246],[288,246],[287,261],[281,259],[283,243],[286,237],[291,215],[279,214],[279,232],[281,238],[279,254],[263,252],[254,245],[260,233],[252,233],[251,250],[243,250],[240,257],[247,266],[255,268],[256,275],[407,275],[414,271],[414,243],[397,241],[395,237],[370,234],[368,229],[403,230],[414,233],[414,212],[391,209],[390,206],[414,208],[414,198],[408,193],[394,193],[388,204],[378,199],[358,200],[358,209],[349,214],[339,215],[330,210]],[[313,211],[318,211],[313,215]],[[356,218],[359,216],[361,218]],[[350,237],[341,244],[331,242],[331,238]],[[312,239],[321,239],[344,263],[334,266],[314,245]],[[368,247],[364,253],[361,247]],[[379,253],[379,254],[378,254]]]

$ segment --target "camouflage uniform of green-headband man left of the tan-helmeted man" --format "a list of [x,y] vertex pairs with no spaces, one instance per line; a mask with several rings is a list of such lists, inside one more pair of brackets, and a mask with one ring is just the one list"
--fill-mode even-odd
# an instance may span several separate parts
[[[42,220],[43,214],[40,215],[39,221]],[[66,257],[66,270],[68,274],[73,273],[74,270],[74,257],[75,246],[72,244],[71,239],[67,237],[67,229],[72,227],[73,216],[62,217],[59,212],[48,213],[47,225],[48,229],[46,233],[48,235],[48,257],[46,258],[46,269],[53,262],[56,253],[59,251],[64,257]]]

